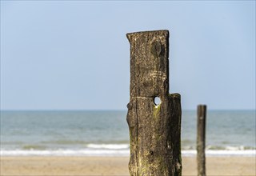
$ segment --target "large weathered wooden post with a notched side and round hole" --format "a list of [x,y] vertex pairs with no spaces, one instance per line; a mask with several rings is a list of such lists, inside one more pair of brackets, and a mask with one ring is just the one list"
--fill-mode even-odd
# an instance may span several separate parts
[[[130,175],[181,175],[181,98],[169,94],[169,31],[126,36],[130,42]],[[161,102],[154,102],[155,98]]]

